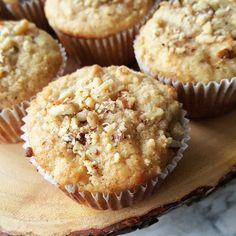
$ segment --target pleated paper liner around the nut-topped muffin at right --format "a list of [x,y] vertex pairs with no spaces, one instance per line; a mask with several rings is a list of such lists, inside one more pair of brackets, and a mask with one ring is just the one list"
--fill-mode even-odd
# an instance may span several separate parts
[[[154,76],[137,55],[136,60],[142,72]],[[236,105],[236,77],[208,83],[182,83],[167,77],[157,79],[176,89],[178,99],[190,118],[217,116]]]

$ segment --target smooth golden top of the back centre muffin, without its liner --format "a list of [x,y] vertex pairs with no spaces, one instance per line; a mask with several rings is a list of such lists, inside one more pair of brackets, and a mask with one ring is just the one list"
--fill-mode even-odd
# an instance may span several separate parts
[[154,0],[47,0],[52,27],[73,36],[101,38],[133,27]]

